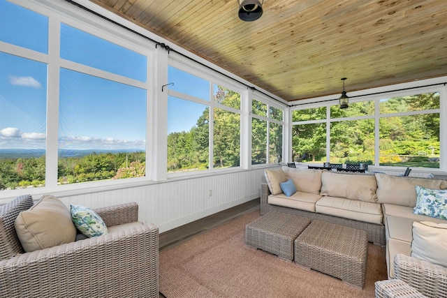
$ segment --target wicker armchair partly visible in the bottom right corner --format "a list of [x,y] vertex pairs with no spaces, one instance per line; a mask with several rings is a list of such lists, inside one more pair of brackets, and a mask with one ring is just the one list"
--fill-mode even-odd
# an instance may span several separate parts
[[394,259],[395,278],[376,282],[376,297],[447,297],[447,268],[406,255]]

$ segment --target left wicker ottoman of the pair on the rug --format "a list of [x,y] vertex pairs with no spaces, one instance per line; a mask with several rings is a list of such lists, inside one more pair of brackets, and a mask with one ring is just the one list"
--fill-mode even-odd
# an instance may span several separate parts
[[310,223],[309,218],[272,211],[245,227],[245,244],[293,260],[293,241]]

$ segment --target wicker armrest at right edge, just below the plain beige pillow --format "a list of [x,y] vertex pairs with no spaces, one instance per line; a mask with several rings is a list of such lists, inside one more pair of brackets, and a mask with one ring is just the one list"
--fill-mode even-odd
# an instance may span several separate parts
[[447,268],[398,253],[394,258],[395,278],[427,297],[447,297]]

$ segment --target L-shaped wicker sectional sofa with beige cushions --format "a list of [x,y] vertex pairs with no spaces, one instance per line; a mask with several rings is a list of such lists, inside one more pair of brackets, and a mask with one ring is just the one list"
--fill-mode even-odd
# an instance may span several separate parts
[[[261,215],[281,211],[365,230],[369,242],[386,246],[389,278],[394,278],[395,255],[411,256],[413,222],[434,223],[447,232],[447,220],[413,213],[415,187],[443,190],[447,189],[446,180],[286,166],[265,170],[265,179],[267,183],[261,183]],[[296,187],[291,196],[281,190],[281,183],[288,179]]]

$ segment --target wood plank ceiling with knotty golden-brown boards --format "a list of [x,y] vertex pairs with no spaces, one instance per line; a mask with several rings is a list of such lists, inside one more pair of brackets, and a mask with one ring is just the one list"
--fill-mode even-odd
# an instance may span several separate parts
[[283,98],[447,75],[446,0],[91,0]]

